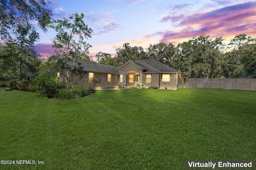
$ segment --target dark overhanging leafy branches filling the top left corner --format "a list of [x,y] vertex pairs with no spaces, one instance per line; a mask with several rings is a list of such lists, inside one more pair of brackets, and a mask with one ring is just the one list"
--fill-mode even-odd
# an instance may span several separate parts
[[16,35],[20,25],[30,27],[36,31],[31,21],[47,31],[47,25],[52,13],[48,9],[46,0],[0,0],[0,34],[2,39],[10,39]]

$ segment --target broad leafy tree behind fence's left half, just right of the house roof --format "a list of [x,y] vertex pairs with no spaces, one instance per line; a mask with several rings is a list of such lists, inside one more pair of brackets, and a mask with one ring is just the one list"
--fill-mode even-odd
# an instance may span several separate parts
[[221,76],[223,54],[222,37],[212,40],[210,35],[200,35],[177,46],[177,61],[183,72],[195,78],[218,78]]

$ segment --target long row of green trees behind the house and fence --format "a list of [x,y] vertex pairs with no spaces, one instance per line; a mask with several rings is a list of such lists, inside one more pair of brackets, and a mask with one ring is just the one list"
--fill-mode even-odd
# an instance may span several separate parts
[[[202,34],[179,43],[150,44],[146,49],[125,43],[116,49],[116,56],[98,53],[97,62],[122,65],[127,61],[154,59],[189,74],[192,78],[256,78],[256,39],[245,34],[236,35],[228,46],[224,38],[210,38]],[[232,51],[224,52],[227,49]],[[111,61],[111,62],[110,62]]]

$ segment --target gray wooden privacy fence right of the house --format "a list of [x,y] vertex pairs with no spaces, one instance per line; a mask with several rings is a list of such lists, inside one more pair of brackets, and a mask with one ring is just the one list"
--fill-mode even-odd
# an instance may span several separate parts
[[186,78],[184,87],[256,91],[256,78]]

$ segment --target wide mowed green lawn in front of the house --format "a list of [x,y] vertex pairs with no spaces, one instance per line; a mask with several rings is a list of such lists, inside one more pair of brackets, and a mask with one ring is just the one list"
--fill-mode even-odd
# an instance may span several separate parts
[[[0,169],[185,169],[256,160],[256,92],[98,90],[72,100],[0,91]],[[16,162],[15,162],[16,163]]]

